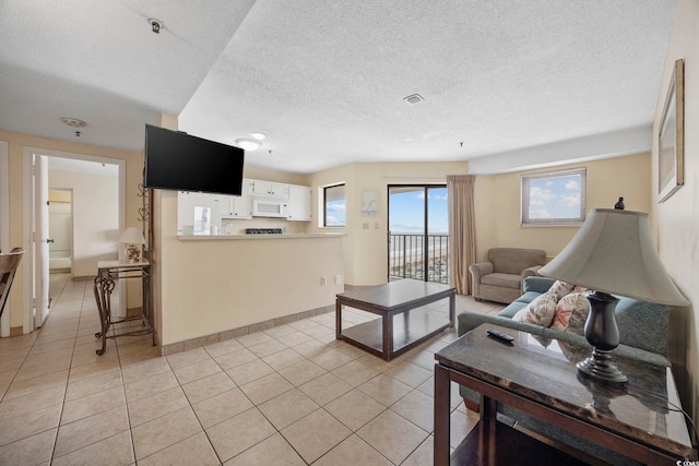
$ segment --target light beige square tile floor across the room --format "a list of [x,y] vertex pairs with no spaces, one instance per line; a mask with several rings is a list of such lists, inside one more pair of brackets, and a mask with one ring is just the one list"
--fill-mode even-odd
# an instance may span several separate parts
[[[51,275],[43,328],[0,339],[0,465],[431,464],[434,353],[453,331],[390,362],[335,340],[333,313],[168,357],[121,337],[97,356],[92,282],[69,278]],[[477,417],[455,385],[451,399],[453,447]]]

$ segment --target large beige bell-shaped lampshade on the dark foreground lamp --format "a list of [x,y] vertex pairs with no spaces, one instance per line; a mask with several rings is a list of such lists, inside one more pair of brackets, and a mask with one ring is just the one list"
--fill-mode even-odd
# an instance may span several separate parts
[[611,295],[689,306],[665,272],[642,212],[590,211],[570,243],[538,273]]

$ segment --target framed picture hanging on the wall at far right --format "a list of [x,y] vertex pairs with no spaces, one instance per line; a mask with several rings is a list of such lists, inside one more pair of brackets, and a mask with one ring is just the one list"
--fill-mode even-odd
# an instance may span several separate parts
[[685,184],[685,61],[676,60],[657,130],[657,202]]

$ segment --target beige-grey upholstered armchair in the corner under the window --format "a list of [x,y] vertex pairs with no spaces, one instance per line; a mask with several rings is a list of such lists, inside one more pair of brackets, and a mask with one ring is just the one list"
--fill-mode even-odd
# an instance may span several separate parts
[[522,295],[522,282],[536,275],[546,264],[546,251],[541,249],[493,248],[488,262],[469,267],[472,290],[476,301],[503,302],[509,304]]

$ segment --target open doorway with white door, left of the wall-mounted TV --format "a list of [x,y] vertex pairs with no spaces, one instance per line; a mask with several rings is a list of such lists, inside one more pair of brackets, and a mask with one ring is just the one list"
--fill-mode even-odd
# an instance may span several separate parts
[[[50,247],[56,246],[56,238],[48,229],[51,210],[49,184],[60,191],[71,191],[69,241],[72,278],[92,279],[97,273],[98,261],[116,260],[122,254],[116,239],[125,225],[126,162],[25,147],[23,164],[23,224],[24,231],[32,232],[24,244],[29,266],[24,268],[23,277],[23,333],[28,333],[40,327],[50,311]],[[62,215],[66,215],[66,207]],[[66,265],[67,260],[61,259]],[[122,289],[118,296],[115,314],[123,313],[120,308],[126,307]]]

